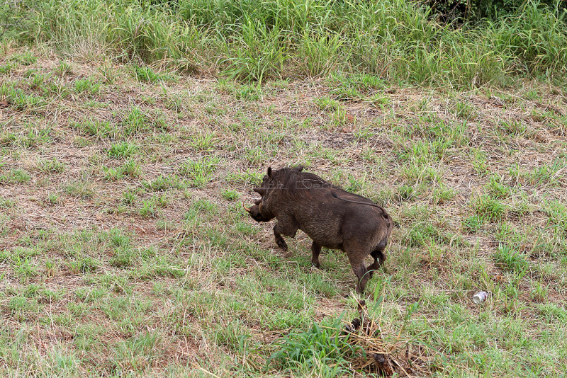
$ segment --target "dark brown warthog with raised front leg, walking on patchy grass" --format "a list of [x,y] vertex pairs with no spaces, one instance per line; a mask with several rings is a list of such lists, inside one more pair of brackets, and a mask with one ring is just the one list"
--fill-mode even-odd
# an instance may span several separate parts
[[[384,249],[392,232],[393,222],[383,207],[368,198],[349,193],[327,183],[319,176],[303,172],[303,167],[268,168],[262,186],[254,188],[262,196],[245,210],[257,222],[276,218],[276,244],[287,251],[282,235],[296,236],[301,229],[313,239],[311,261],[320,267],[321,247],[347,253],[354,274],[358,277],[357,292],[363,292],[374,270],[386,260]],[[374,258],[368,268],[366,256]]]

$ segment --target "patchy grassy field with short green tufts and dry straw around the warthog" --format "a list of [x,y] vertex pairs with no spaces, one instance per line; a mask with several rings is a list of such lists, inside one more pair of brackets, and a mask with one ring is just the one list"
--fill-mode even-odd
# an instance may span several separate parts
[[[41,4],[22,16],[27,33],[18,25],[0,42],[2,376],[359,377],[376,372],[364,366],[370,341],[410,376],[564,376],[563,26],[545,29],[556,45],[507,45],[495,65],[468,71],[458,49],[482,36],[483,55],[495,41],[438,26],[432,41],[454,38],[452,58],[432,43],[422,50],[430,64],[408,66],[416,43],[373,69],[352,41],[335,61],[340,49],[301,55],[292,40],[285,64],[264,70],[246,65],[250,56],[232,64],[246,35],[213,38],[205,8],[192,8],[201,13],[187,16],[186,32],[208,39],[196,38],[198,54],[184,61],[179,41],[168,45],[178,56],[129,50],[135,39],[101,39],[120,32],[111,21],[80,23],[72,7]],[[40,6],[74,16],[65,23]],[[325,20],[331,39],[312,47],[333,30],[354,35],[331,13]],[[295,164],[399,224],[364,296],[344,253],[324,250],[313,268],[305,234],[283,252],[271,224],[242,210],[267,166]],[[489,297],[473,304],[479,290]],[[378,328],[373,340],[341,336],[357,299]]]

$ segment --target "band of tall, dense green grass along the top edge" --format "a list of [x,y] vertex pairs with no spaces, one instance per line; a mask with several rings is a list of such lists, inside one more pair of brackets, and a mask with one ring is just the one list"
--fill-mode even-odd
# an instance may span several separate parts
[[[366,72],[408,84],[473,88],[510,74],[563,78],[566,11],[525,1],[461,26],[419,1],[23,0],[0,13],[10,35],[114,58],[169,62],[242,80]],[[9,20],[6,20],[9,18]],[[9,22],[8,22],[9,21]],[[4,22],[2,22],[4,23]]]

